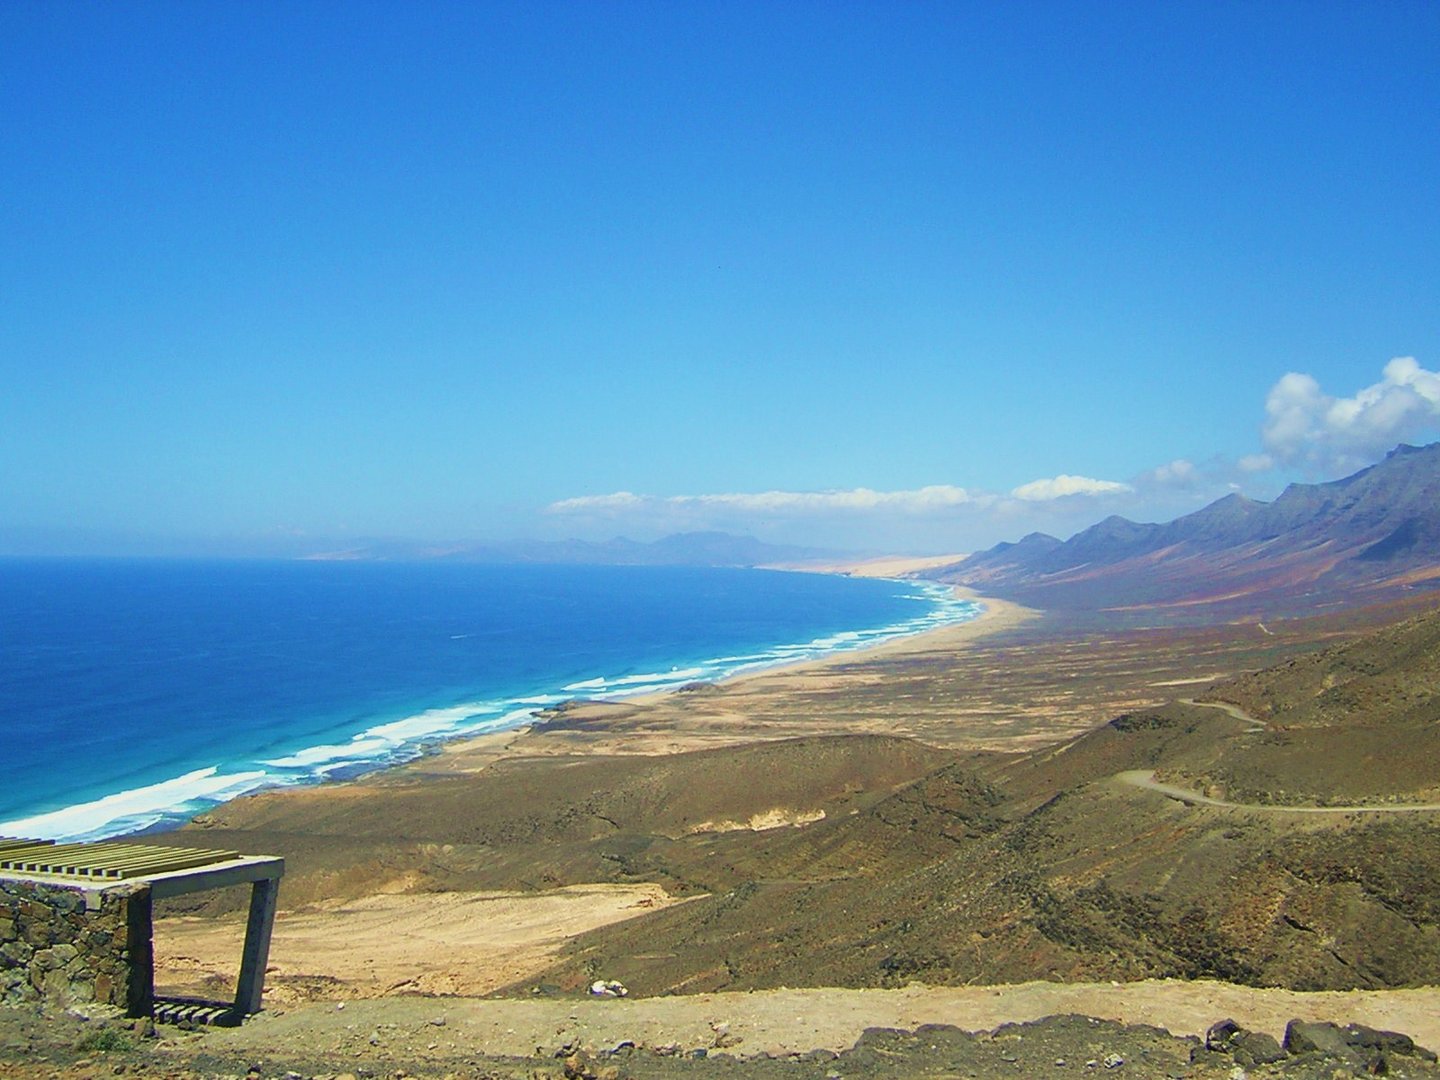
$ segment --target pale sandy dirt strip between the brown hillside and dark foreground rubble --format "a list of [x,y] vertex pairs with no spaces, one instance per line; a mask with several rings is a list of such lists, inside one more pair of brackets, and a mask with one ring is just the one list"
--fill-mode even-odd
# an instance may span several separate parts
[[[1440,1045],[1440,988],[1300,994],[1223,982],[1054,984],[1017,986],[909,986],[904,989],[783,989],[698,994],[642,999],[390,998],[314,1004],[258,1017],[213,1037],[217,1047],[253,1051],[266,1045],[353,1050],[376,1030],[423,1056],[436,1041],[484,1047],[487,1054],[533,1054],[566,1044],[593,1050],[636,1045],[714,1047],[729,1034],[734,1054],[805,1054],[854,1045],[865,1028],[913,1030],[949,1024],[986,1031],[1001,1024],[1079,1014],[1119,1024],[1149,1024],[1176,1035],[1202,1037],[1217,1020],[1276,1038],[1293,1020],[1361,1022],[1404,1031],[1423,1045]],[[390,1027],[393,1025],[393,1027]],[[423,1045],[420,1045],[423,1044]],[[439,1047],[436,1047],[439,1050]]]

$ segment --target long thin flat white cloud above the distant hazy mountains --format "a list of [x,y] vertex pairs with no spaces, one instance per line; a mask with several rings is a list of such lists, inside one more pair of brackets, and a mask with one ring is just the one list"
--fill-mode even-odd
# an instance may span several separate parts
[[985,504],[991,495],[972,495],[965,488],[933,484],[914,491],[759,491],[716,495],[580,495],[552,503],[550,514],[613,513],[632,510],[733,510],[750,514],[831,514],[900,511],[929,514],[955,507]]

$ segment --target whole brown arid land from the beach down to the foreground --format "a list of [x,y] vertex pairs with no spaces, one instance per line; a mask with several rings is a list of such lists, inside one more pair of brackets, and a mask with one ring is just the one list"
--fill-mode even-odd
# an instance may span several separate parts
[[[240,799],[154,840],[285,855],[269,1011],[117,1040],[177,1076],[829,1076],[867,1028],[922,1034],[870,1035],[840,1074],[998,1076],[1022,1032],[924,1025],[1053,1014],[1094,1018],[1031,1032],[1053,1068],[1115,1054],[1130,1074],[1230,1076],[1224,1054],[1191,1063],[1225,1017],[1436,1045],[1427,608],[1100,631],[992,602],[873,654],[562,707]],[[226,995],[242,901],[164,909],[161,992]],[[629,998],[592,998],[596,979]],[[7,1045],[81,1070],[63,1074],[98,1060],[33,1031]],[[696,1050],[713,1056],[677,1056]],[[1264,1068],[1282,1064],[1312,1074]]]

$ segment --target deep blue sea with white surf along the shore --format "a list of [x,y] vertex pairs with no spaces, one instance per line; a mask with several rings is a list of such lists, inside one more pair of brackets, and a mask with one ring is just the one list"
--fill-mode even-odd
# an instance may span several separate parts
[[772,570],[0,560],[0,835],[177,824],[567,698],[976,612],[943,586]]

